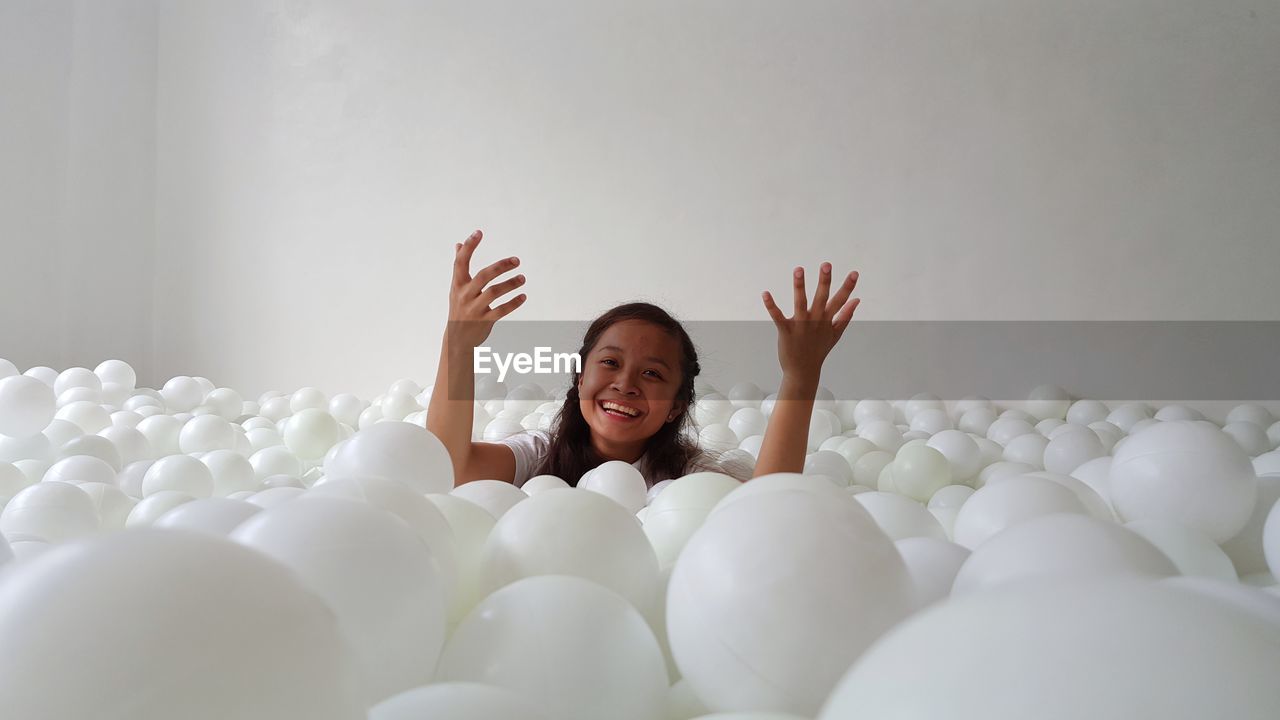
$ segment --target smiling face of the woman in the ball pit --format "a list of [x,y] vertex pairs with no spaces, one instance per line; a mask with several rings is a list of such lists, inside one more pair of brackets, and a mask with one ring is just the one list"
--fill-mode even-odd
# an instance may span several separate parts
[[[680,341],[645,320],[613,323],[600,334],[582,359],[577,392],[602,457],[635,462],[645,441],[680,415]],[[613,402],[627,410],[605,410]]]

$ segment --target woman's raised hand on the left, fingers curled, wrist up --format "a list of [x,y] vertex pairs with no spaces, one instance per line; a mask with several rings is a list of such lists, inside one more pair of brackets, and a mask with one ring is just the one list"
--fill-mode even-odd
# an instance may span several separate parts
[[525,284],[525,275],[485,287],[502,273],[520,265],[520,258],[506,258],[471,277],[471,255],[483,236],[476,231],[454,246],[453,286],[449,288],[449,320],[445,331],[448,342],[454,348],[471,350],[479,346],[489,337],[499,318],[507,316],[526,300],[525,293],[520,293],[497,307],[489,307],[498,297]]

